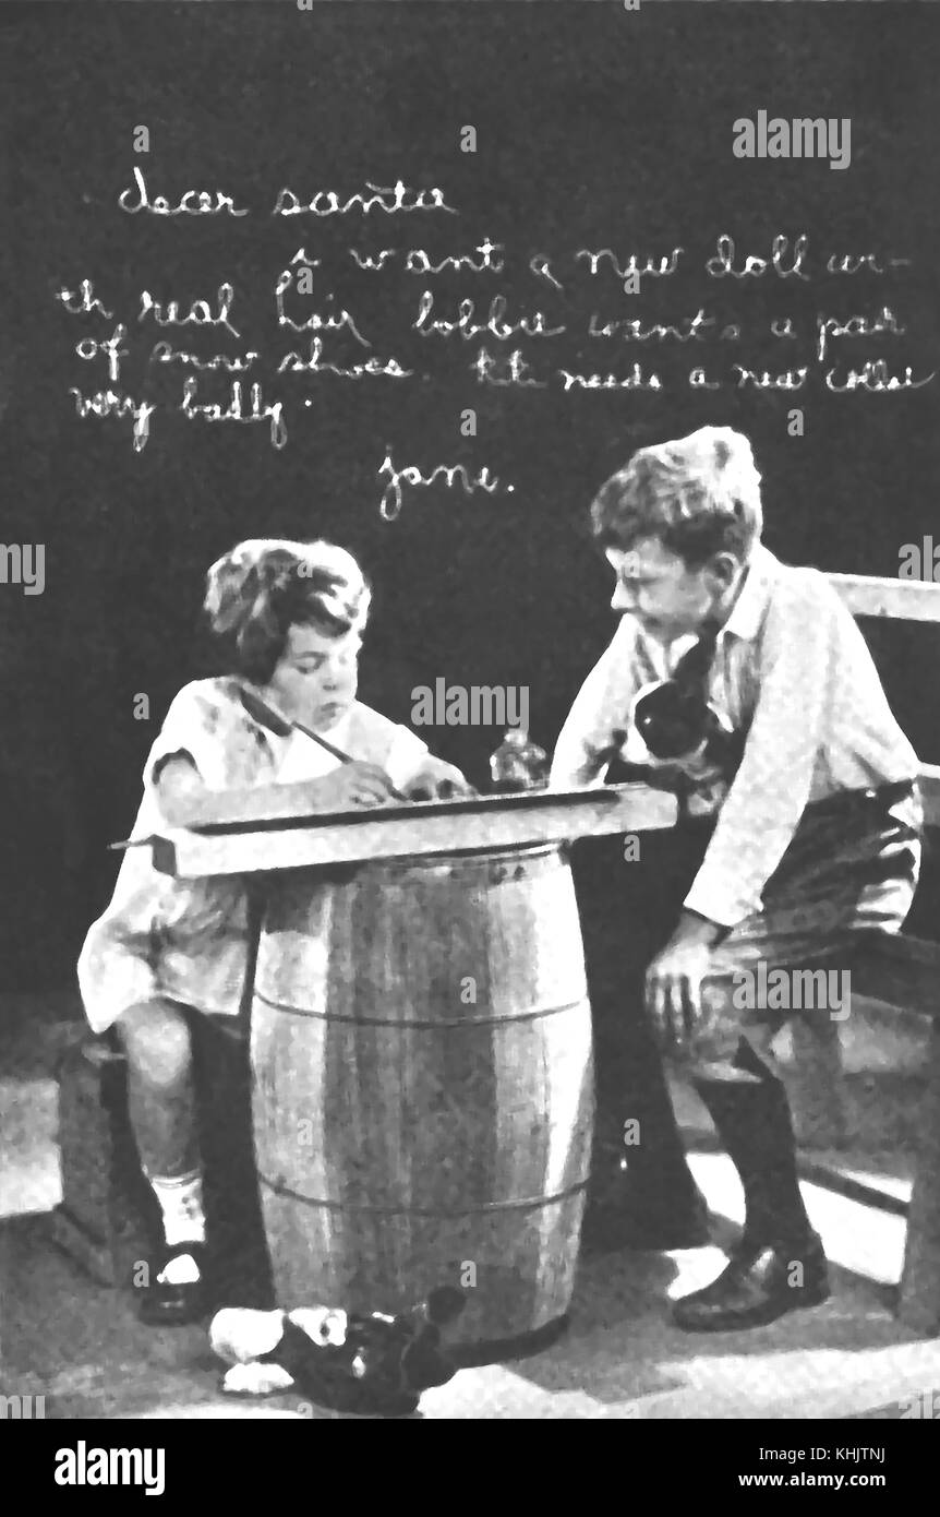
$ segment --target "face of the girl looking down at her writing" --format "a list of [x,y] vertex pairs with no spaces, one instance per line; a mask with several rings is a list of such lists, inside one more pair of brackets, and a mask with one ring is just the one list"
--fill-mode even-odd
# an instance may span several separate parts
[[331,636],[315,627],[291,627],[267,693],[285,716],[327,731],[356,698],[361,645],[356,628]]

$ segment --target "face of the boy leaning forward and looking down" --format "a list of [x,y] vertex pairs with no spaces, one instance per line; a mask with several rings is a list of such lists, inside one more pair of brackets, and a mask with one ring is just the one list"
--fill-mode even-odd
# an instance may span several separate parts
[[658,537],[641,537],[629,549],[608,548],[606,560],[617,575],[613,608],[634,616],[661,643],[700,631],[741,569],[734,554],[716,554],[690,569]]

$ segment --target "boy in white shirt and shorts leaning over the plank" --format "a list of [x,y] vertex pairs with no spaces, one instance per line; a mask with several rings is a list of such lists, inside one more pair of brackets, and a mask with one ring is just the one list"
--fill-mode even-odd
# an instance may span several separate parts
[[[619,752],[637,758],[637,693],[656,677],[681,684],[681,671],[693,707],[699,681],[702,734],[720,724],[738,737],[723,784],[705,766],[699,812],[711,806],[714,821],[693,824],[707,846],[647,968],[646,1003],[666,1047],[691,1060],[746,1198],[728,1267],[679,1300],[675,1320],[749,1327],[825,1300],[828,1277],[769,1054],[790,1013],[741,985],[831,966],[861,930],[902,925],[920,863],[917,758],[825,576],[763,546],[760,475],[738,432],[705,426],[640,449],[591,517],[622,620],[566,721],[552,783],[600,783]],[[697,772],[685,769],[687,796]]]

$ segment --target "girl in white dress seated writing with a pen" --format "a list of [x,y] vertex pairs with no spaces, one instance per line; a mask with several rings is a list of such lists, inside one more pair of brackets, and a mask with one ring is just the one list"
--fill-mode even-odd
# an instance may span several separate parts
[[[287,786],[297,810],[381,806],[393,789],[465,789],[408,728],[356,701],[370,590],[331,543],[244,542],[208,573],[205,611],[229,674],[186,684],[144,768],[133,837],[185,827],[209,793]],[[261,704],[259,704],[261,702]],[[271,721],[271,708],[288,721]],[[290,722],[329,734],[341,765]],[[159,1201],[164,1248],[143,1312],[182,1323],[206,1306],[205,1215],[186,1010],[235,1016],[250,950],[247,886],[174,880],[130,848],[79,960],[88,1021],[115,1025],[127,1056],[130,1121]]]

